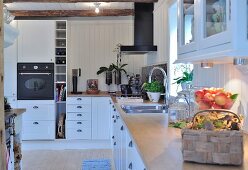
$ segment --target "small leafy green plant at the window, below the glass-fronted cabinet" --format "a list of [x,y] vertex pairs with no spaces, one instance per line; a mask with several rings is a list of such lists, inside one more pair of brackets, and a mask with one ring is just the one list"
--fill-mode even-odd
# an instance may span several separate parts
[[193,70],[189,71],[184,71],[183,75],[180,77],[177,77],[175,79],[175,82],[173,84],[178,84],[181,85],[182,90],[186,90],[189,86],[192,85],[192,80],[193,80]]

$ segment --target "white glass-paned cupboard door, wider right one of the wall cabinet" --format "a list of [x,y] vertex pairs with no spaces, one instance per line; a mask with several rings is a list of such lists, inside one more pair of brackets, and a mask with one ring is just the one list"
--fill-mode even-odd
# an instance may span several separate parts
[[[231,42],[232,0],[202,0],[200,3],[200,48]],[[233,1],[234,2],[234,1]]]

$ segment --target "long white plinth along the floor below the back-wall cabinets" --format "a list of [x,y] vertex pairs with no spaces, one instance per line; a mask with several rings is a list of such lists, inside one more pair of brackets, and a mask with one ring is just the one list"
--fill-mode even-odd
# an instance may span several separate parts
[[110,140],[22,141],[22,150],[111,149]]

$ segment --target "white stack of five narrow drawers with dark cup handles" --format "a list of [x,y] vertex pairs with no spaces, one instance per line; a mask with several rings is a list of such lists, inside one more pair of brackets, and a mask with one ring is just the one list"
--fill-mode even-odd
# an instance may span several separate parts
[[68,97],[66,139],[91,139],[91,97]]

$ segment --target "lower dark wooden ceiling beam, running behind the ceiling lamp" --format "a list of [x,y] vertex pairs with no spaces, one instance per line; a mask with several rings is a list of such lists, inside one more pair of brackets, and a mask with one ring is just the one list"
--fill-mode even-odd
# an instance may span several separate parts
[[98,16],[133,16],[133,9],[101,9],[94,10],[11,10],[15,17],[98,17]]

